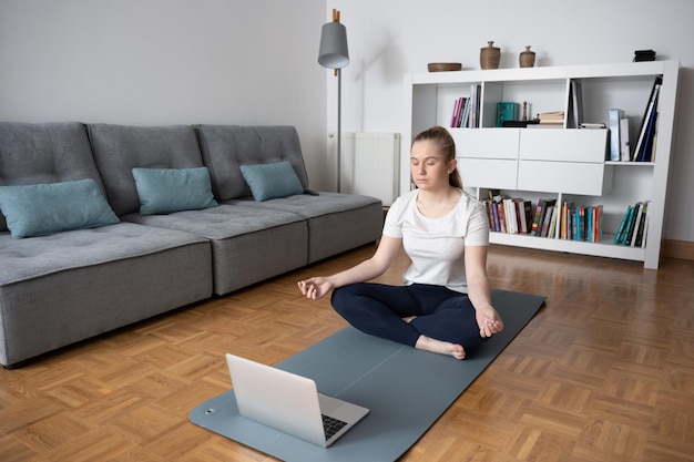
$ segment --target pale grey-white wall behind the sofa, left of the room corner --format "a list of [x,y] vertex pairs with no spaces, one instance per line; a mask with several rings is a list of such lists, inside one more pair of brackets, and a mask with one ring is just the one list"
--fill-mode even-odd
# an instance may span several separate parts
[[292,124],[326,179],[324,0],[0,0],[0,120]]

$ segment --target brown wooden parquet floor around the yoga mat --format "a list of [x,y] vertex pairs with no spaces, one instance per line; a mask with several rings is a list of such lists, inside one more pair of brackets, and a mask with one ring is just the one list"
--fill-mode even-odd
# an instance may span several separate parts
[[[344,327],[295,283],[372,251],[0,370],[0,461],[272,460],[188,411],[228,390],[226,351],[273,365]],[[380,280],[398,284],[406,265]],[[547,306],[402,461],[694,461],[694,261],[653,271],[494,246],[489,274]]]

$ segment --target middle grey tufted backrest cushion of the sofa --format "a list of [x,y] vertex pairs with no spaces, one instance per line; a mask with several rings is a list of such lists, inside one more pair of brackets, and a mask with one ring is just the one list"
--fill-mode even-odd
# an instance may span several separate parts
[[204,166],[191,125],[89,124],[88,131],[106,197],[119,216],[140,211],[133,168]]

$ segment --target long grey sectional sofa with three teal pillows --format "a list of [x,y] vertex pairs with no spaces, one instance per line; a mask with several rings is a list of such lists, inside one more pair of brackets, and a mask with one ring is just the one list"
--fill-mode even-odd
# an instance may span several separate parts
[[0,212],[8,368],[375,242],[382,226],[374,197],[308,189],[292,126],[0,122]]

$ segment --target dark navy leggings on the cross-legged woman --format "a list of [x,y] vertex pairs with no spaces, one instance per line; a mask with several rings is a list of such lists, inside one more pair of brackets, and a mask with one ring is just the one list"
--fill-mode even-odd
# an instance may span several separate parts
[[[471,348],[482,340],[467,294],[441,286],[359,283],[333,291],[333,307],[363,332],[411,347],[420,335]],[[411,322],[402,318],[417,316]]]

